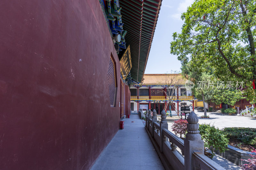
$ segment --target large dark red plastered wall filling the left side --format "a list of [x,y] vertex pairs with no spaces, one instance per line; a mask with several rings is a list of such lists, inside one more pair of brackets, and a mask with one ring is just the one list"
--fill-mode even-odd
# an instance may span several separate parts
[[90,168],[120,121],[111,52],[117,78],[120,64],[99,1],[0,4],[0,169]]

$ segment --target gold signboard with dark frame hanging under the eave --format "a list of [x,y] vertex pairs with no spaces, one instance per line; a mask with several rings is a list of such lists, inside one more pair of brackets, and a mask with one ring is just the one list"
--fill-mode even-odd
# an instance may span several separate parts
[[123,76],[123,79],[125,79],[132,68],[130,45],[126,48],[120,60],[120,65],[121,65],[121,74]]

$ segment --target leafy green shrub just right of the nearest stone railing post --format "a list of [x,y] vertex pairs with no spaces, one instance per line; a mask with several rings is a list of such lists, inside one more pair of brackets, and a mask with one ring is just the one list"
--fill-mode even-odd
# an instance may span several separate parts
[[213,150],[216,149],[220,152],[225,152],[227,150],[228,138],[225,132],[210,124],[199,124],[199,131],[202,140],[204,140],[204,155],[212,159],[215,155],[214,152],[206,152],[210,147],[212,147]]

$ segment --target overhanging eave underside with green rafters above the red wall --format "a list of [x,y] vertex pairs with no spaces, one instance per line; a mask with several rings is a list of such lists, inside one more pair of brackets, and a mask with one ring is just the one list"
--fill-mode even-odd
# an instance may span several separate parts
[[123,28],[127,30],[125,42],[131,48],[131,77],[137,82],[142,82],[161,3],[162,0],[119,0]]

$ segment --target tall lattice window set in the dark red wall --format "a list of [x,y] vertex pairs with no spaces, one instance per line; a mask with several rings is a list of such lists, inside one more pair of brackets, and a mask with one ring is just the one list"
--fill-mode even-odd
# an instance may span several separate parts
[[116,82],[117,82],[116,66],[112,57],[110,57],[109,65],[108,65],[108,92],[109,92],[110,106],[112,107],[116,106],[116,89],[117,89]]

